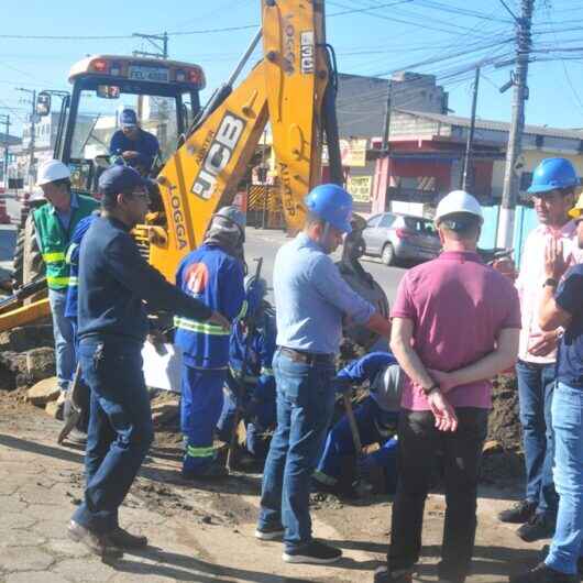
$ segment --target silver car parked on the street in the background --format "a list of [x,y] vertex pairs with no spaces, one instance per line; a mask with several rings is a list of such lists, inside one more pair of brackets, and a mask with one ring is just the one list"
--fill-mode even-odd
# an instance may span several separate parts
[[366,222],[362,237],[364,253],[380,256],[385,265],[433,260],[441,252],[433,222],[409,215],[375,215]]

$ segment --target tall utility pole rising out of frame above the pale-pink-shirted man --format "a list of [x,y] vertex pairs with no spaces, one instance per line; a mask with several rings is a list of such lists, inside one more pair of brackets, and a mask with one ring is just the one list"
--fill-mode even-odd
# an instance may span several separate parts
[[515,166],[522,150],[525,129],[525,101],[528,99],[527,77],[530,56],[530,28],[535,0],[521,0],[521,15],[516,19],[516,72],[513,95],[513,119],[506,152],[506,169],[498,226],[497,246],[510,249],[514,239],[514,220],[518,195],[518,176]]

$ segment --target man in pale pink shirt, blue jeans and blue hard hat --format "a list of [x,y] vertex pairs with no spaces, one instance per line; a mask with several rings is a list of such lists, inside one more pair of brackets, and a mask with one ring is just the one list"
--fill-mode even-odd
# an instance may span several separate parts
[[505,522],[521,524],[517,535],[527,542],[552,536],[557,517],[551,405],[557,345],[562,329],[541,330],[538,308],[547,279],[544,250],[549,242],[562,243],[563,257],[568,264],[578,263],[580,256],[575,223],[569,216],[578,184],[579,178],[571,162],[546,158],[535,169],[528,189],[540,224],[526,240],[520,275],[516,282],[522,314],[516,374],[526,463],[526,496],[499,515]]

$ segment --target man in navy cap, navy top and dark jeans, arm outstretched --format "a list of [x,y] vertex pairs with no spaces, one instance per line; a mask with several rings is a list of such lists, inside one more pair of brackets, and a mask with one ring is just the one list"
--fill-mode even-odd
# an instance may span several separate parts
[[95,554],[119,558],[125,548],[147,544],[145,537],[131,535],[119,522],[119,507],[154,439],[142,371],[146,306],[219,330],[228,330],[229,322],[167,283],[140,254],[130,234],[147,212],[147,191],[138,172],[128,166],[107,169],[99,191],[101,217],[85,233],[79,253],[79,360],[91,404],[87,484],[68,536]]

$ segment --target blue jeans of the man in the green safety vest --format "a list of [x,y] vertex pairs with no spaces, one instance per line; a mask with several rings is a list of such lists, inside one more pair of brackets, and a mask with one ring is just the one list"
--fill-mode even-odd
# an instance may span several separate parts
[[61,391],[67,391],[75,372],[75,340],[70,320],[65,317],[67,290],[48,290],[48,302],[53,315],[53,334],[55,337],[55,362]]

